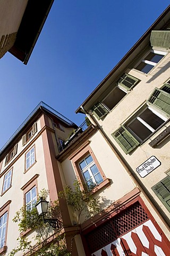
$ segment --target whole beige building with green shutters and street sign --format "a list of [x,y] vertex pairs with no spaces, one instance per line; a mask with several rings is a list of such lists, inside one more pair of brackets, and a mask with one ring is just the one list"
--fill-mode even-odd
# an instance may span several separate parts
[[[140,189],[140,198],[147,206],[154,222],[168,239],[170,217],[169,14],[168,6],[76,111],[76,113],[86,114],[103,134],[117,159],[124,164],[126,171]],[[144,229],[142,230],[144,232]],[[146,237],[148,239],[145,233]],[[156,238],[156,234],[154,237]],[[150,238],[150,243],[154,241],[154,237]],[[140,240],[142,241],[141,238]],[[124,244],[123,241],[125,249],[126,242]],[[129,241],[128,249],[130,243]],[[114,244],[116,250],[120,244]],[[110,245],[104,246],[102,250],[105,251]],[[142,249],[142,252],[155,255],[154,252],[147,251],[148,248],[149,244]],[[108,253],[109,250],[111,247],[107,248],[106,252]],[[131,244],[130,251],[134,253],[132,255],[141,255],[138,254],[138,251],[141,251],[138,246],[134,251],[132,250],[134,247]],[[104,251],[97,251],[94,255],[107,255]],[[169,249],[166,253],[168,251]]]

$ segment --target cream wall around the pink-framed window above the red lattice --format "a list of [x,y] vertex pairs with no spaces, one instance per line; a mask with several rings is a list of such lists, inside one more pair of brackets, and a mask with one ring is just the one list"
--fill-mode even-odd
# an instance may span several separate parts
[[[124,170],[124,167],[118,162],[111,148],[104,140],[100,132],[98,131],[90,139],[90,148],[92,149],[97,161],[103,170],[106,178],[111,180],[111,186],[104,187],[98,190],[94,196],[99,196],[101,201],[101,210],[105,209],[124,195],[128,194],[135,188],[135,185],[129,175]],[[80,145],[81,146],[81,145]],[[72,186],[76,173],[69,158],[65,159],[61,163],[61,172],[63,172],[62,180],[63,184]],[[77,220],[75,212],[70,208],[71,219]],[[80,219],[82,223],[84,216]]]

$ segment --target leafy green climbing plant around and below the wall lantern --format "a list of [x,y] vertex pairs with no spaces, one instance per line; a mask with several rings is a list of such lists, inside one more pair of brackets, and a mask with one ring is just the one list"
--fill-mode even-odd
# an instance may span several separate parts
[[[47,198],[48,191],[43,189],[40,191],[39,198]],[[38,199],[39,199],[38,198]],[[50,202],[48,207],[48,218],[60,218],[60,207],[57,201]],[[50,227],[49,223],[44,223],[43,217],[38,215],[36,207],[27,205],[21,207],[16,212],[13,219],[14,222],[19,223],[20,233],[28,229],[36,230],[36,235],[31,240],[25,236],[17,238],[18,246],[14,248],[8,256],[14,256],[16,253],[22,251],[27,255],[35,256],[70,256],[71,253],[67,251],[65,238],[59,234],[59,230]]]

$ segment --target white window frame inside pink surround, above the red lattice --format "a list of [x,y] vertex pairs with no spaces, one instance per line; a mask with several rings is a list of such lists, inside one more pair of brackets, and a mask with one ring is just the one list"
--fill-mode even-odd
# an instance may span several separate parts
[[[101,175],[101,173],[100,173],[100,171],[99,171],[99,169],[98,169],[98,167],[97,167],[97,165],[96,165],[94,159],[92,158],[92,156],[91,156],[91,158],[92,158],[92,162],[91,162],[91,163],[87,164],[87,166],[84,167],[82,170],[81,170],[81,167],[80,167],[80,164],[81,164],[83,161],[86,162],[86,158],[87,158],[88,156],[91,156],[91,154],[88,154],[88,155],[86,155],[84,158],[81,159],[81,161],[78,163],[78,164],[79,164],[79,168],[80,168],[80,171],[81,171],[83,180],[84,180],[84,182],[87,183],[87,186],[90,187],[90,185],[88,185],[88,181],[89,181],[89,180],[92,180],[93,183],[91,184],[91,186],[92,186],[92,187],[93,187],[93,186],[96,187],[96,186],[99,185],[102,181],[104,181],[104,179],[103,179],[103,177],[101,176],[101,178],[102,178],[103,180],[102,180],[100,183],[97,183],[97,182],[96,182],[95,176],[96,176],[98,173]],[[87,163],[87,162],[86,162],[86,163]],[[97,172],[95,175],[92,174],[92,172],[91,172],[91,170],[90,170],[90,167],[92,167],[92,166],[94,166],[94,165],[96,166],[96,168],[97,168],[97,170],[98,170],[98,172]],[[90,178],[89,178],[88,180],[86,180],[86,179],[84,178],[84,175],[83,175],[83,173],[86,172],[86,171],[88,171],[89,174],[90,174]]]

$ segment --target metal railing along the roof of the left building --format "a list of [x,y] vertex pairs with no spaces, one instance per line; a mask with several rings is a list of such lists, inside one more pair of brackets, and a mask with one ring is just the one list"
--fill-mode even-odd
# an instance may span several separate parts
[[29,119],[36,113],[36,111],[40,108],[43,107],[46,110],[50,111],[51,113],[55,114],[56,116],[58,116],[59,118],[62,118],[67,124],[69,125],[75,125],[72,121],[70,121],[70,119],[66,118],[65,116],[63,116],[62,114],[60,114],[58,111],[56,111],[54,108],[48,106],[45,102],[41,101],[37,107],[35,109],[33,109],[33,111],[31,112],[31,114],[23,121],[23,123],[18,127],[18,129],[14,132],[14,134],[10,137],[10,139],[7,140],[7,142],[5,143],[5,145],[1,148],[0,150],[0,154],[2,153],[2,151],[10,144],[10,142],[14,139],[14,137],[16,136],[16,134],[18,134],[21,129],[24,127],[25,124],[27,124],[27,122],[29,121]]

